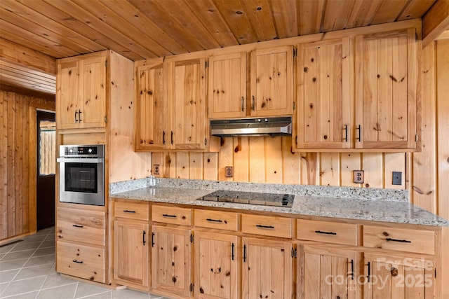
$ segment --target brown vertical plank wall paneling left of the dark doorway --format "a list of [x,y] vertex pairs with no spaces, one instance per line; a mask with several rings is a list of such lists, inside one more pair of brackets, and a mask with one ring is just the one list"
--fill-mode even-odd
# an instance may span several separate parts
[[36,109],[55,101],[0,90],[0,239],[36,231]]

